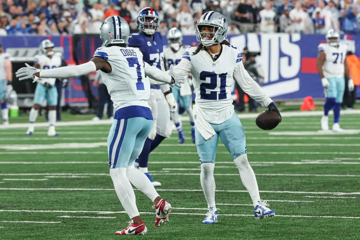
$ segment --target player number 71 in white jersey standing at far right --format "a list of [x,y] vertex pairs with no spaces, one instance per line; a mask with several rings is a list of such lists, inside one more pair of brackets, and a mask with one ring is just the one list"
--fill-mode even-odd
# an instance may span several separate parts
[[[339,42],[340,35],[330,29],[327,33],[327,43],[318,46],[317,67],[324,87],[325,104],[324,116],[321,117],[321,129],[329,130],[328,113],[334,111],[333,132],[343,132],[340,128],[340,108],[345,91],[345,79],[348,81],[349,91],[354,90],[354,82],[350,76],[350,69],[346,61],[347,47]],[[344,79],[345,72],[345,79]]]

